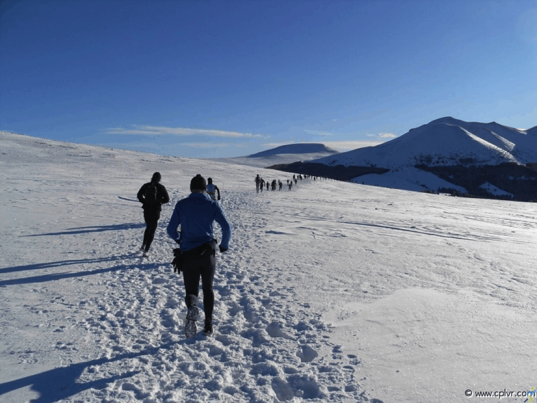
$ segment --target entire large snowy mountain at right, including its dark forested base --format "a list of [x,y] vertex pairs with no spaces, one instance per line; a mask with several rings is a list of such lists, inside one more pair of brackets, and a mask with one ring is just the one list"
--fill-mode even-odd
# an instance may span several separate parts
[[537,202],[537,126],[445,117],[378,146],[271,168],[387,188]]

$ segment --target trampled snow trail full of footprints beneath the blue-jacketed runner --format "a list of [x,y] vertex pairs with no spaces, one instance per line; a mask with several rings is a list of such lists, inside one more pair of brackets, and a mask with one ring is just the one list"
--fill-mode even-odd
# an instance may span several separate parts
[[[263,213],[251,195],[241,192],[228,193],[225,208],[231,223],[245,211]],[[194,340],[183,336],[184,290],[166,262],[169,240],[161,237],[155,244],[151,260],[158,262],[130,268],[125,261],[128,270],[113,273],[107,284],[110,291],[94,303],[101,316],[89,318],[85,326],[101,335],[112,366],[127,361],[126,368],[140,373],[136,381],[121,379],[101,390],[99,399],[366,400],[354,379],[359,359],[330,343],[330,329],[319,314],[309,312],[309,306],[296,298],[289,300],[293,287],[275,279],[285,276],[282,268],[271,267],[266,256],[256,256],[263,248],[259,241],[264,229],[257,222],[234,226],[233,246],[218,255],[212,338],[202,332]],[[289,309],[290,304],[303,308]],[[130,339],[139,329],[147,336]],[[142,354],[155,347],[153,354]],[[125,358],[115,363],[117,355]],[[149,387],[155,378],[159,384]]]

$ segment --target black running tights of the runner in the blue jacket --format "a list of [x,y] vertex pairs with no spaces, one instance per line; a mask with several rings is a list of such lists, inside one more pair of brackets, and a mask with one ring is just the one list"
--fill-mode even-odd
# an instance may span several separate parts
[[186,307],[190,308],[198,304],[201,277],[205,318],[213,317],[213,281],[215,269],[216,258],[212,254],[204,257],[183,255],[183,282],[185,283]]

